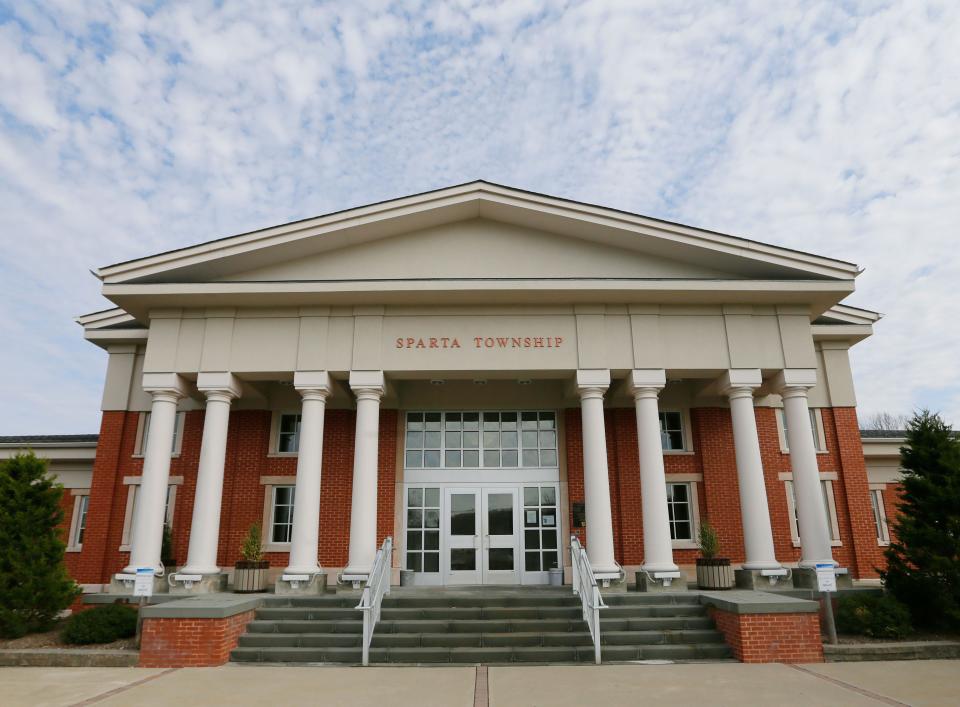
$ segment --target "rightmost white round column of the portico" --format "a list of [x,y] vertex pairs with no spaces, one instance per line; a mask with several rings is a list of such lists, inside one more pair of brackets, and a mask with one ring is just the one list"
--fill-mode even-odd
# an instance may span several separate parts
[[813,369],[786,369],[777,377],[777,387],[783,398],[790,467],[793,470],[793,494],[800,531],[800,566],[807,568],[823,562],[836,564],[830,551],[830,530],[823,506],[820,469],[807,403],[807,389],[816,382],[817,373]]

